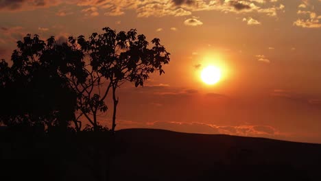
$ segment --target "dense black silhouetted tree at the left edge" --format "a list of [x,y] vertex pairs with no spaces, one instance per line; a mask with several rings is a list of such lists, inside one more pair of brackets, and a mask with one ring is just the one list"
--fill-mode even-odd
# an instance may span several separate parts
[[69,82],[40,61],[45,42],[27,34],[12,53],[12,67],[1,60],[1,116],[5,125],[67,129],[76,108]]

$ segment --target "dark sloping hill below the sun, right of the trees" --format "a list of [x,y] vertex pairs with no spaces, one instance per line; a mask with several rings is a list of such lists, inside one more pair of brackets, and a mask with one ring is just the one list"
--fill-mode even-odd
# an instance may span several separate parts
[[111,180],[321,180],[321,145],[130,129],[116,133]]

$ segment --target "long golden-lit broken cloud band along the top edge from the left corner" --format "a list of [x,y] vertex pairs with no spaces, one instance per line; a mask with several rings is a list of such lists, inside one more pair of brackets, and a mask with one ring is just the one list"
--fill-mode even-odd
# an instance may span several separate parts
[[[193,12],[215,10],[219,12],[260,13],[268,16],[276,16],[278,11],[283,11],[284,5],[276,1],[263,0],[2,0],[0,10],[34,10],[36,8],[48,8],[55,5],[67,4],[97,8],[98,10],[87,12],[86,16],[98,16],[99,12],[106,16],[121,16],[128,10],[136,12],[137,17],[150,16],[189,16]],[[264,6],[263,6],[264,4]],[[60,10],[57,16],[67,16],[73,12]]]

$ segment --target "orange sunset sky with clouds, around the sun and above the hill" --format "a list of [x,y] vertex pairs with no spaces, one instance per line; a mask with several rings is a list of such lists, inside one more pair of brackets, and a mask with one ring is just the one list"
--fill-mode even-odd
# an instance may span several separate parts
[[[171,53],[164,75],[119,88],[118,130],[321,143],[321,0],[0,0],[0,58],[28,33],[64,41],[103,27],[136,28]],[[222,73],[213,85],[200,78],[209,65]]]

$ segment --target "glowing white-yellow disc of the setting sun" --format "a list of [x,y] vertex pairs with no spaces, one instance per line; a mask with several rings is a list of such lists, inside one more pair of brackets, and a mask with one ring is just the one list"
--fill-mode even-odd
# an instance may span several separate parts
[[221,78],[221,71],[217,67],[209,65],[202,70],[201,78],[205,84],[215,84]]

